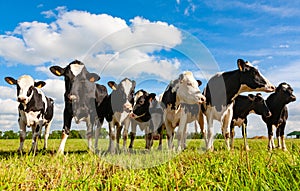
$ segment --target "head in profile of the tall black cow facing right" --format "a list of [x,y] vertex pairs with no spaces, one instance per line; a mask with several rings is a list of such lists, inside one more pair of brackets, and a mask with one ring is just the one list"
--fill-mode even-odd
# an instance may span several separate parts
[[243,59],[238,59],[237,65],[240,71],[240,92],[275,91],[275,87],[248,61],[245,62]]

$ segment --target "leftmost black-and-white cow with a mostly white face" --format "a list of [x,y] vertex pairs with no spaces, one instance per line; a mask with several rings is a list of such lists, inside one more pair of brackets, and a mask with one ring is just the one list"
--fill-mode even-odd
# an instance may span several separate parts
[[24,75],[18,80],[12,77],[6,77],[5,81],[11,85],[17,86],[17,101],[19,104],[19,127],[20,127],[20,147],[19,152],[23,150],[23,144],[26,137],[26,126],[32,128],[32,146],[30,152],[38,150],[37,138],[45,126],[44,149],[47,149],[50,126],[53,119],[54,103],[40,90],[45,86],[44,81],[35,82],[31,76]]

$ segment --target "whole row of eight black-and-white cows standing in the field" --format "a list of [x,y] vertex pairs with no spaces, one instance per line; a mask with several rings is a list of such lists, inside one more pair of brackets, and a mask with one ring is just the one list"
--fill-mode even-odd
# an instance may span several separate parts
[[[292,87],[285,82],[275,87],[255,67],[242,59],[237,60],[237,66],[237,70],[217,73],[211,77],[203,92],[199,89],[202,82],[196,80],[192,72],[183,72],[169,83],[159,98],[155,93],[142,89],[136,91],[136,82],[128,78],[124,78],[118,84],[109,81],[107,84],[112,91],[108,94],[104,85],[95,83],[100,76],[90,73],[78,60],[69,63],[65,68],[52,66],[50,71],[56,76],[63,76],[65,81],[62,140],[57,152],[64,153],[73,118],[76,123],[86,122],[88,147],[95,152],[98,151],[98,136],[104,120],[109,124],[108,152],[112,154],[120,149],[121,136],[123,149],[126,150],[129,130],[131,130],[129,149],[133,149],[137,126],[145,131],[147,149],[151,149],[154,139],[160,140],[158,148],[162,148],[164,128],[168,148],[173,149],[174,131],[177,128],[177,150],[183,150],[186,148],[187,124],[193,121],[200,125],[206,149],[211,151],[214,149],[214,120],[221,123],[226,147],[230,149],[233,148],[234,126],[243,126],[243,135],[246,136],[247,115],[250,113],[261,115],[266,123],[268,149],[275,148],[273,130],[276,130],[278,147],[286,150],[284,140],[288,117],[286,105],[296,100]],[[18,151],[23,150],[27,127],[31,127],[33,131],[30,152],[38,150],[37,139],[42,127],[45,127],[44,149],[47,149],[54,101],[41,91],[46,83],[36,82],[28,75],[18,79],[6,77],[5,81],[17,86],[20,127]],[[266,100],[260,93],[239,95],[251,91],[271,94]],[[204,127],[204,116],[207,128]],[[95,126],[96,130],[93,131]],[[248,149],[248,146],[246,148]]]

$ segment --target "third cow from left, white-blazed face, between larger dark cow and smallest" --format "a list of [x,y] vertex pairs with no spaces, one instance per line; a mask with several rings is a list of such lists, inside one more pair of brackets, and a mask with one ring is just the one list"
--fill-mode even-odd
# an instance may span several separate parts
[[[132,111],[136,82],[124,78],[119,84],[116,84],[114,81],[109,81],[107,84],[112,89],[112,92],[104,99],[103,107],[97,108],[97,113],[98,116],[104,115],[109,124],[108,152],[114,154],[116,150],[119,150],[119,138],[123,126],[123,150],[126,151],[130,125],[129,114]],[[115,147],[115,140],[117,141],[117,147]]]

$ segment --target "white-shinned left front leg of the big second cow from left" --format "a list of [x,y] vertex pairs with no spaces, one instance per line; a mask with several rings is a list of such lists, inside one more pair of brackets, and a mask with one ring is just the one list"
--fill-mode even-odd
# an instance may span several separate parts
[[61,135],[61,142],[58,148],[58,154],[64,154],[65,145],[70,134],[72,115],[66,110],[64,111],[64,127]]

